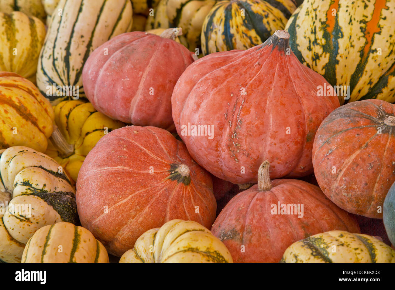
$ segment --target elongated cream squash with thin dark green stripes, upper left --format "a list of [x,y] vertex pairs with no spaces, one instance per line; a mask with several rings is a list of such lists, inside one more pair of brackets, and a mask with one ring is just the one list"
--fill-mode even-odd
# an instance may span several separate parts
[[89,54],[132,29],[130,0],[60,0],[56,9],[61,13],[52,15],[37,67],[37,86],[52,105],[73,98],[54,95],[56,86],[78,86],[85,99],[82,69]]

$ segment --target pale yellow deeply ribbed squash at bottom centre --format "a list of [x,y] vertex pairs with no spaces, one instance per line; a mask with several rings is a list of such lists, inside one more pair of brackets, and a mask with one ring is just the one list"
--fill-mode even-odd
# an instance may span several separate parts
[[225,245],[194,221],[173,219],[142,234],[120,263],[233,263]]

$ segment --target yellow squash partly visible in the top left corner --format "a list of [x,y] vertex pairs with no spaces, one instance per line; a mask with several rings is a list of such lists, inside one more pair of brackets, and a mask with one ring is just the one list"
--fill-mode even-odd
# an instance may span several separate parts
[[0,0],[0,12],[11,13],[13,11],[21,11],[43,22],[47,16],[41,0]]

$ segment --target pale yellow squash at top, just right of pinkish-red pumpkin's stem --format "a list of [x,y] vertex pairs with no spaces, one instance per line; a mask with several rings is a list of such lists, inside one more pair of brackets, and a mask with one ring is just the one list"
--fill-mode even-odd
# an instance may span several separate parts
[[166,10],[171,27],[181,27],[181,44],[201,55],[200,35],[203,21],[216,0],[167,0]]

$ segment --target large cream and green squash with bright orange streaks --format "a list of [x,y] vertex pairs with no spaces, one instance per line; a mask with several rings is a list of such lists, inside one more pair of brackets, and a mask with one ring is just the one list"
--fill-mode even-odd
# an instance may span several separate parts
[[350,102],[395,102],[395,1],[305,0],[286,30],[300,62],[331,85],[350,86]]

